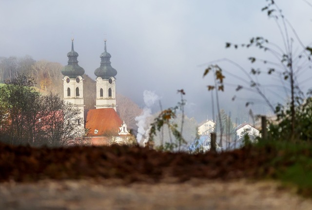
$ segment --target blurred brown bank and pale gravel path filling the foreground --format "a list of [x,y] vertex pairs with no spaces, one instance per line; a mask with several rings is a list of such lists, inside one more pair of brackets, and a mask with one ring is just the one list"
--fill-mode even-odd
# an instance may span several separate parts
[[272,148],[189,155],[0,144],[0,210],[312,210],[273,181]]

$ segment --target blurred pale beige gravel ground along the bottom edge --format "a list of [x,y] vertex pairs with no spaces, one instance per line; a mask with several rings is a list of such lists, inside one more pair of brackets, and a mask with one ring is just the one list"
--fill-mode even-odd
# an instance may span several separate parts
[[312,210],[275,182],[192,179],[124,185],[117,180],[0,183],[0,210]]

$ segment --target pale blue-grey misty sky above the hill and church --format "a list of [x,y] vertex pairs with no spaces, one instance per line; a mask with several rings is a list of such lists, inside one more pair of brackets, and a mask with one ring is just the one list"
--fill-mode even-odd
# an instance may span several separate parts
[[[301,41],[310,44],[312,7],[304,0],[276,2]],[[203,63],[230,58],[249,69],[250,53],[225,49],[225,42],[264,36],[280,44],[274,21],[261,12],[266,4],[266,0],[0,0],[0,56],[30,55],[36,61],[66,65],[73,37],[79,65],[95,79],[107,39],[118,72],[117,93],[143,107],[143,91],[155,91],[166,108],[176,105],[180,98],[176,90],[183,88],[187,115],[200,122],[213,118]],[[227,70],[243,77],[233,66]],[[221,108],[227,113],[247,112],[244,103],[231,101],[233,89],[226,87],[220,95]],[[238,99],[251,96],[243,92]],[[264,106],[259,103],[255,109],[265,112]]]

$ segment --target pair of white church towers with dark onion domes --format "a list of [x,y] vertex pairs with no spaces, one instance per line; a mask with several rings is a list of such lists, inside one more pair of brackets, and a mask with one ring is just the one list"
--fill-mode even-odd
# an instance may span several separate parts
[[[64,101],[77,106],[81,110],[81,118],[84,113],[83,103],[83,78],[84,69],[78,65],[78,53],[74,50],[74,39],[72,39],[72,50],[67,53],[68,64],[61,73],[64,75]],[[116,78],[117,71],[111,66],[111,55],[106,51],[106,40],[104,40],[104,52],[100,55],[100,66],[94,71],[97,76],[97,98],[96,108],[114,108],[116,111]]]

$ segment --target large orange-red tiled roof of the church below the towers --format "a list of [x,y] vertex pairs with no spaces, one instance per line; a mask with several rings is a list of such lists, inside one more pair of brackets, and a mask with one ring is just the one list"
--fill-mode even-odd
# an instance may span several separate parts
[[[118,135],[122,124],[114,108],[99,108],[85,110],[85,127],[89,129],[89,136],[112,136]],[[94,130],[97,129],[96,134]]]

